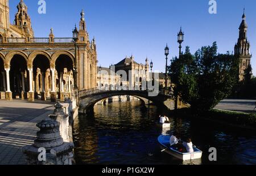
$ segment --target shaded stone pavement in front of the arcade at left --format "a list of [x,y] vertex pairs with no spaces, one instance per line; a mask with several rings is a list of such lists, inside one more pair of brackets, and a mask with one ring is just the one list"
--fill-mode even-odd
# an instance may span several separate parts
[[31,145],[39,128],[36,123],[53,113],[49,101],[0,100],[0,165],[26,164],[22,147]]

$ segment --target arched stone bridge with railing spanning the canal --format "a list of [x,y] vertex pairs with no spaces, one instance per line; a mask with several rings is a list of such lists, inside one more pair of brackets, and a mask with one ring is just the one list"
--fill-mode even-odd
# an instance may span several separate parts
[[[150,93],[154,93],[156,96],[150,96]],[[146,90],[134,90],[134,89],[84,89],[78,92],[79,97],[79,109],[80,112],[86,113],[92,109],[93,106],[101,100],[113,96],[129,95],[134,96],[142,100],[144,104],[147,104],[145,100],[153,102],[156,106],[167,108],[168,110],[175,109],[175,98],[171,91],[160,90],[154,91],[150,89]]]

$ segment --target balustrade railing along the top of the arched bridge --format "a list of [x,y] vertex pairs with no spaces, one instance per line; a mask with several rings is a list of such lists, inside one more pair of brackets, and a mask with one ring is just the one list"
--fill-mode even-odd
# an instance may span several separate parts
[[168,97],[174,97],[174,92],[169,91],[166,89],[150,89],[150,88],[131,88],[131,87],[96,87],[96,88],[90,88],[90,89],[81,89],[78,91],[78,97],[85,97],[89,95],[96,95],[98,93],[104,93],[104,92],[114,92],[114,91],[136,91],[136,92],[146,92],[146,93],[155,93],[155,95],[162,95],[162,96],[168,96]]

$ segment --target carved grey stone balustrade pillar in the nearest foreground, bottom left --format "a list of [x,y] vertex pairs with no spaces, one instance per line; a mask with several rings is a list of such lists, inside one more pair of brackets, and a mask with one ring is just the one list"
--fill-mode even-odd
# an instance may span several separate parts
[[[40,131],[36,134],[34,144],[22,149],[27,156],[27,164],[71,165],[74,144],[63,142],[60,136],[60,123],[53,119],[46,119],[36,126],[40,128]],[[42,150],[46,152],[45,160],[42,160],[39,155]]]

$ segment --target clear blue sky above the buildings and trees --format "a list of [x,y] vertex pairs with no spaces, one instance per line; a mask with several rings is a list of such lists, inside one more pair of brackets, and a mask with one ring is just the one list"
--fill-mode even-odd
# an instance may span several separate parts
[[[24,0],[36,37],[47,37],[51,27],[56,37],[72,37],[84,8],[90,40],[96,37],[99,65],[108,67],[133,54],[139,63],[144,63],[146,56],[152,59],[154,70],[159,71],[164,71],[167,42],[169,57],[178,55],[176,35],[181,25],[183,50],[188,45],[195,53],[217,41],[218,52],[233,51],[245,7],[256,75],[256,1],[216,1],[217,14],[209,14],[208,0],[46,0],[47,14],[38,14],[38,0]],[[10,1],[11,22],[18,3]]]

